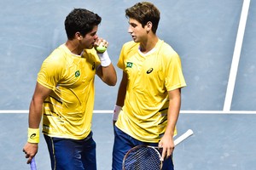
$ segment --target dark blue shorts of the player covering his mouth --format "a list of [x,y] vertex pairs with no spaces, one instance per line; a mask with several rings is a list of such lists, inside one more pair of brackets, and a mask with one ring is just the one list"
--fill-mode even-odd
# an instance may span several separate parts
[[85,139],[61,139],[44,135],[53,170],[96,170],[96,143],[92,133]]

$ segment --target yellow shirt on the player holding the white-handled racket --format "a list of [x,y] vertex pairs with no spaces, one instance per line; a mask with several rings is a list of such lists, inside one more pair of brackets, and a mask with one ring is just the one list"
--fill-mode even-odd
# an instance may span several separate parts
[[162,40],[147,54],[139,43],[126,42],[117,65],[128,84],[116,126],[140,141],[159,142],[166,131],[168,91],[186,86],[178,54]]

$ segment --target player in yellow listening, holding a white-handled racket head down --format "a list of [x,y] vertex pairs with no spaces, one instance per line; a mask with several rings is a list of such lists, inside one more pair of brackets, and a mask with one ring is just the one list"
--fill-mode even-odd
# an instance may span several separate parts
[[[173,169],[173,136],[186,86],[178,54],[156,35],[160,11],[152,3],[125,10],[133,41],[121,49],[123,70],[114,107],[113,170],[122,169],[125,153],[138,144],[163,147],[163,169]],[[116,122],[117,121],[117,122]]]

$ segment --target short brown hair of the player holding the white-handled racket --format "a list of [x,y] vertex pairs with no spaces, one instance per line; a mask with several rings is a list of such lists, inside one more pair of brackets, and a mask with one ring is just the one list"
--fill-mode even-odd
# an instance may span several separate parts
[[160,21],[160,10],[153,3],[141,2],[131,8],[126,8],[125,16],[137,20],[143,27],[147,25],[148,21],[152,22],[152,31],[155,33]]

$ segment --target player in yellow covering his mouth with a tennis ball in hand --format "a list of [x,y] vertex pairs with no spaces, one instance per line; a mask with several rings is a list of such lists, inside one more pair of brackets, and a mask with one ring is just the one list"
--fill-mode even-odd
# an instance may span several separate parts
[[67,42],[44,60],[29,109],[28,140],[23,151],[27,163],[38,152],[39,123],[52,169],[96,169],[96,143],[92,139],[95,75],[114,86],[116,72],[108,52],[96,47],[108,42],[97,36],[102,18],[84,8],[67,15]]

